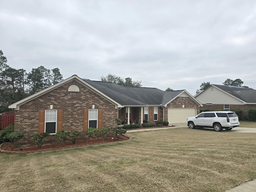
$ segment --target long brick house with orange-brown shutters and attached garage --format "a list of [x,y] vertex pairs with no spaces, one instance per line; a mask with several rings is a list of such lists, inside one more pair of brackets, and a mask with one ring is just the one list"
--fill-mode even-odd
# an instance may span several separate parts
[[[116,126],[115,118],[142,124],[165,120],[186,122],[202,106],[186,90],[165,92],[157,88],[126,87],[92,81],[76,75],[9,106],[15,110],[14,130],[24,132],[23,144],[42,132],[54,135],[88,127]],[[54,137],[50,137],[54,141]]]

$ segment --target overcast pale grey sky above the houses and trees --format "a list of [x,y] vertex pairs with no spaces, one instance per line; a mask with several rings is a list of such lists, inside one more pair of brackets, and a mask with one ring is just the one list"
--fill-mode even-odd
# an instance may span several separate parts
[[0,0],[0,50],[31,72],[187,90],[256,89],[256,0]]

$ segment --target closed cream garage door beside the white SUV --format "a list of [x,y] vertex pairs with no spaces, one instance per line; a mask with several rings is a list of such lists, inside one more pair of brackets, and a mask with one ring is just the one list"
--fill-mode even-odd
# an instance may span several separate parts
[[169,108],[168,109],[169,124],[187,122],[187,118],[192,116],[196,116],[196,108]]

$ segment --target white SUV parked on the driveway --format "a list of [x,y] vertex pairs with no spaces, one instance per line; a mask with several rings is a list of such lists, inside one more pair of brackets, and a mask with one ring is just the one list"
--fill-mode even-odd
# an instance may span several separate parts
[[232,111],[207,111],[195,117],[187,118],[187,126],[190,129],[195,127],[210,127],[215,131],[232,130],[240,125],[236,112]]

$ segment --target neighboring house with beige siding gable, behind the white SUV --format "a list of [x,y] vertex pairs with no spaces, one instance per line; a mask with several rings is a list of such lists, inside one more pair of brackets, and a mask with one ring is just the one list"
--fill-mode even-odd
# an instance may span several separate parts
[[247,115],[249,108],[256,108],[256,90],[252,88],[211,84],[195,98],[211,111],[239,109]]

